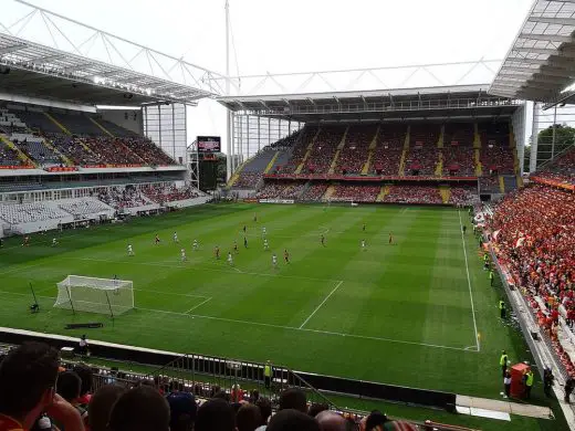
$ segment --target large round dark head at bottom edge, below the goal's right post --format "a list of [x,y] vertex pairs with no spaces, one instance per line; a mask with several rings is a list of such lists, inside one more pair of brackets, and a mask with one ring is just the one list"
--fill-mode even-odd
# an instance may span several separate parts
[[116,401],[109,414],[108,431],[168,431],[169,406],[149,386],[138,386]]

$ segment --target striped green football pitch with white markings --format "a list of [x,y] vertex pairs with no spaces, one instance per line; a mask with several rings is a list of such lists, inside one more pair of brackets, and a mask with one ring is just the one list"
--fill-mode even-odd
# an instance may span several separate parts
[[[468,213],[451,208],[234,203],[49,232],[28,248],[14,238],[0,250],[0,325],[79,336],[86,329],[64,325],[102,320],[88,338],[498,398],[501,349],[513,361],[525,350],[498,318],[500,292],[462,224],[471,227]],[[114,323],[54,308],[70,274],[133,281],[136,308]]]

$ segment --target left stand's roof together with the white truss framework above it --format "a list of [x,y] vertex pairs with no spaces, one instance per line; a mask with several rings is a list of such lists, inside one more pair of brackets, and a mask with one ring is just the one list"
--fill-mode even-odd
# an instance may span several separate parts
[[[23,0],[0,15],[0,92],[83,105],[195,104],[223,92],[217,72]],[[221,83],[221,85],[220,85]]]

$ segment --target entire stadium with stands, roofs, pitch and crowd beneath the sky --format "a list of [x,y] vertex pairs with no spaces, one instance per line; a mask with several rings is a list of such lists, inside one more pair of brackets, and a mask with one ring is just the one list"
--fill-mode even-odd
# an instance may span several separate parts
[[575,2],[243,75],[11,3],[0,430],[575,430]]

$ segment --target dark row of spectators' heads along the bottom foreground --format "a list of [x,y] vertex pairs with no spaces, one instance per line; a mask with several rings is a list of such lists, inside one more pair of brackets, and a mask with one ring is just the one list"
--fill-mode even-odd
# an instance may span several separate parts
[[0,358],[0,431],[383,431],[417,430],[373,411],[357,417],[309,403],[305,392],[285,389],[275,403],[257,390],[209,393],[148,380],[95,387],[90,367],[62,367],[58,350],[24,343]]

